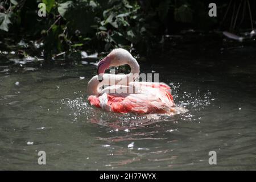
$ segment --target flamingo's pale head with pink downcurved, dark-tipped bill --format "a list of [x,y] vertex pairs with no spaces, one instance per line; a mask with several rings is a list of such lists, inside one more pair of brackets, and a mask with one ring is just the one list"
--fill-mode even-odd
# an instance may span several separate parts
[[102,81],[102,77],[106,69],[109,69],[109,67],[118,67],[119,65],[127,64],[131,57],[133,56],[131,56],[130,52],[122,48],[111,51],[109,55],[104,57],[104,59],[102,59],[97,65],[98,81]]

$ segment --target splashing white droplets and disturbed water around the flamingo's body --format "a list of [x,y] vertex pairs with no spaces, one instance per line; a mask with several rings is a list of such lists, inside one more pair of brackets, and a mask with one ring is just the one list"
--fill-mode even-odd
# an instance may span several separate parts
[[182,92],[179,82],[171,82],[170,85],[176,103],[176,112],[172,115],[110,113],[90,106],[85,97],[77,97],[73,100],[70,98],[61,99],[59,104],[65,105],[68,114],[73,116],[73,121],[97,123],[97,125],[110,127],[113,130],[125,131],[146,127],[162,121],[173,121],[172,117],[176,114],[180,114],[179,118],[183,121],[196,120],[198,118],[193,118],[195,115],[192,115],[189,110],[200,111],[209,106],[211,101],[214,101],[209,90],[205,93],[200,92],[200,90],[195,93]]

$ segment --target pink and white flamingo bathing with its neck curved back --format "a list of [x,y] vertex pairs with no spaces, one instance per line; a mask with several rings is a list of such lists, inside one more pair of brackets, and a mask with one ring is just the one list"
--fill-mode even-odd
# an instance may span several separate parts
[[[127,75],[105,73],[109,67],[125,64],[131,68]],[[139,64],[130,52],[122,48],[113,49],[98,63],[97,75],[88,82],[88,101],[92,106],[115,113],[174,113],[170,86],[162,82],[135,81],[138,76]],[[108,86],[100,89],[104,85]]]

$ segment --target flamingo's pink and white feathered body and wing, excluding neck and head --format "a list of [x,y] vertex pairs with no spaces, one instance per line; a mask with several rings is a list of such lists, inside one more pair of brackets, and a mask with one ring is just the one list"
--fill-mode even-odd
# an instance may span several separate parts
[[[89,96],[91,105],[117,113],[170,113],[174,106],[170,86],[154,82],[131,82],[137,93],[108,93]],[[108,90],[119,89],[118,85]],[[106,90],[106,89],[105,89]]]

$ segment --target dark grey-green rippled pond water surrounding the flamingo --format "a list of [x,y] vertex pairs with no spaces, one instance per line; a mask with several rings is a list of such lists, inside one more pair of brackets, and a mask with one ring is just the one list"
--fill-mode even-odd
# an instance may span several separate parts
[[[2,73],[0,169],[256,169],[255,59],[232,55],[142,61],[142,72],[160,73],[189,110],[169,117],[90,106],[92,64]],[[209,165],[209,151],[217,165]]]

